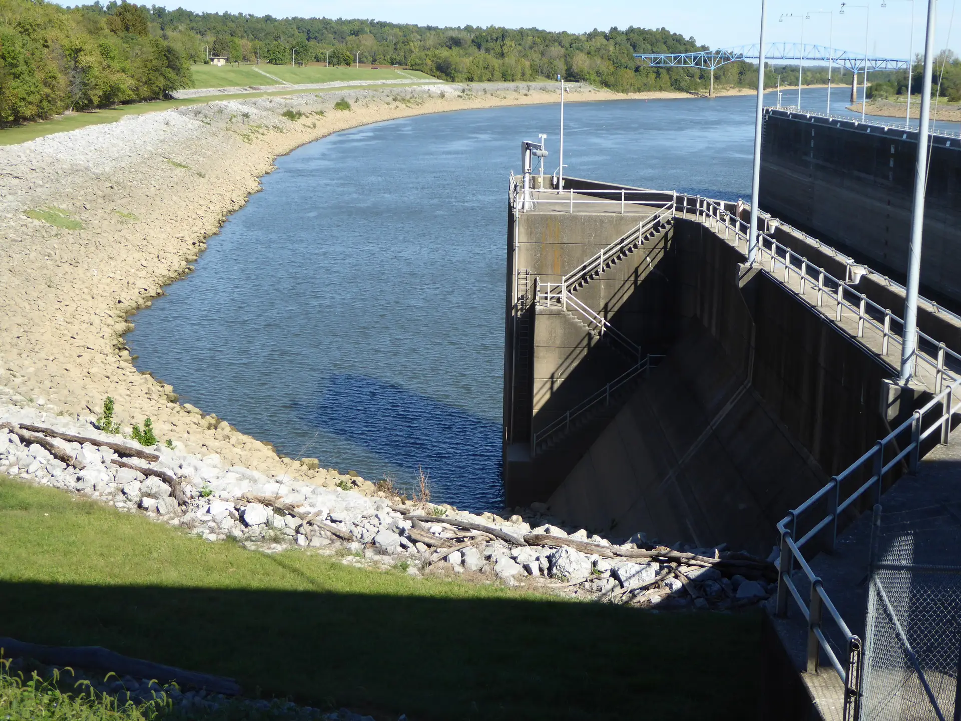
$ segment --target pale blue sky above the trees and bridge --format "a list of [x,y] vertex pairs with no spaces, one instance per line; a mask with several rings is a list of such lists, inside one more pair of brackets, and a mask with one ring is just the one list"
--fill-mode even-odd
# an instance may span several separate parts
[[[171,0],[154,0],[167,8],[177,7]],[[959,0],[938,0],[937,47],[949,47],[961,54],[961,17],[955,17],[953,32],[949,25],[953,7]],[[905,58],[911,26],[911,8],[915,8],[915,51],[924,42],[925,0],[852,0],[854,5],[870,5],[868,50],[887,57]],[[651,0],[554,0],[553,3],[518,2],[518,0],[354,0],[351,3],[328,0],[185,0],[184,7],[197,12],[253,12],[270,13],[275,17],[288,15],[327,17],[369,17],[392,22],[412,22],[419,25],[505,25],[507,27],[538,27],[546,30],[583,32],[593,28],[606,30],[612,26],[626,28],[666,27],[684,36],[694,36],[711,47],[727,47],[753,42],[757,37],[760,0],[682,0],[652,2]],[[833,10],[834,46],[861,53],[864,51],[865,12],[849,5],[838,14],[840,2],[817,0],[769,0],[768,37],[772,40],[799,41],[801,22],[798,17],[778,22],[781,13],[802,15],[808,11]],[[958,9],[961,15],[961,9]],[[829,15],[811,14],[804,23],[804,39],[827,44]]]

